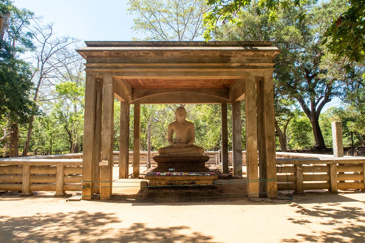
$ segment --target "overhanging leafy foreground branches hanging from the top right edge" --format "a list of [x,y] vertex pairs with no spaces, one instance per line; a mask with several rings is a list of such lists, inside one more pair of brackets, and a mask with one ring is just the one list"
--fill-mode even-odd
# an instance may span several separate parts
[[[253,1],[247,0],[207,0],[211,8],[204,13],[203,23],[206,27],[205,40],[210,40],[212,32],[217,26],[226,23],[236,23],[238,13],[248,8]],[[261,8],[264,8],[271,20],[276,19],[278,10],[287,11],[294,5],[300,7],[311,1],[299,0],[260,0]],[[342,58],[346,56],[350,62],[361,62],[365,57],[365,1],[350,0],[349,3],[337,5],[338,8],[346,7],[331,18],[331,26],[325,32],[326,38],[322,41],[327,48]],[[300,22],[306,18],[306,11],[299,13],[296,19]]]

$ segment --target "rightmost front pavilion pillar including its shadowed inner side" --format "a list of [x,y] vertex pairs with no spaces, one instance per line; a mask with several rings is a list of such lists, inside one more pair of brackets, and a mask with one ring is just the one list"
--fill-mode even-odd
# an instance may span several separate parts
[[275,116],[274,116],[274,87],[272,72],[268,72],[257,82],[257,118],[260,134],[259,164],[260,180],[266,179],[260,188],[262,196],[277,197],[276,181],[276,152],[275,152]]

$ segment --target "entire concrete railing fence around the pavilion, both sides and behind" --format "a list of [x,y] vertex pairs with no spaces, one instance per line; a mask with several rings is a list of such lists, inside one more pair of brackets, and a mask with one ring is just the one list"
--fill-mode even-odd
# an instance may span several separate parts
[[[156,164],[151,152],[151,164]],[[219,163],[218,151],[207,151],[207,164]],[[232,164],[232,152],[229,163]],[[246,151],[242,151],[242,164],[246,164]],[[129,154],[132,164],[133,152]],[[146,163],[147,152],[140,153]],[[333,157],[325,154],[276,153],[278,190],[365,188],[365,157]],[[119,163],[119,152],[114,152],[114,164]],[[65,191],[81,191],[82,153],[29,156],[0,159],[0,191],[55,191],[55,196]]]

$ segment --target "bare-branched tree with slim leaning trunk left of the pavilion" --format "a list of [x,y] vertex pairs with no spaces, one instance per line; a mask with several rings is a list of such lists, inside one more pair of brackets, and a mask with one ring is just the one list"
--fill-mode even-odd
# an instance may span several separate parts
[[[33,101],[37,103],[39,99],[46,99],[44,96],[49,93],[48,88],[54,85],[54,79],[60,78],[58,74],[64,69],[65,63],[76,62],[77,59],[80,59],[74,58],[77,55],[76,52],[69,51],[79,40],[69,36],[55,37],[52,23],[45,26],[36,23],[32,28],[32,32],[34,33],[36,46],[33,52],[36,59],[36,68],[33,73],[33,79],[36,83]],[[41,89],[46,91],[46,94],[39,95]],[[28,154],[33,121],[34,114],[29,119],[27,140],[24,144],[22,156]]]

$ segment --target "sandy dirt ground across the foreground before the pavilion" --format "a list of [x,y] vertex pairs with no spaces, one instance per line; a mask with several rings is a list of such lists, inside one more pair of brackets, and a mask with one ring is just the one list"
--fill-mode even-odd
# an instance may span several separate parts
[[291,200],[0,196],[0,242],[364,242],[365,193]]

